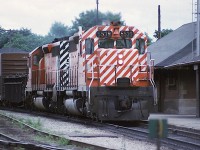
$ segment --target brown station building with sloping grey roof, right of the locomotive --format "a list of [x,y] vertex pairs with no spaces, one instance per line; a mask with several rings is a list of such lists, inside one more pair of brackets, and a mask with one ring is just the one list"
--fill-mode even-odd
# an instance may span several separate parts
[[182,25],[148,47],[155,59],[158,112],[199,115],[196,25],[195,22]]

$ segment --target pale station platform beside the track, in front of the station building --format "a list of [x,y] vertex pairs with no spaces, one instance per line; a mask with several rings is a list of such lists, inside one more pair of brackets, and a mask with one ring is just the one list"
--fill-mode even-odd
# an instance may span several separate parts
[[195,115],[151,114],[150,119],[166,119],[171,126],[200,130],[200,118]]

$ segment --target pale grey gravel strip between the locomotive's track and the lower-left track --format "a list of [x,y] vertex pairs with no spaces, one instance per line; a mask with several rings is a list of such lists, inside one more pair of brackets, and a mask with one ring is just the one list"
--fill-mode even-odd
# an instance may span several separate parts
[[[155,150],[157,147],[148,142],[126,139],[125,137],[110,132],[102,131],[98,128],[88,127],[70,122],[57,121],[45,117],[35,117],[23,113],[13,113],[0,110],[0,113],[6,113],[18,119],[31,119],[42,123],[42,129],[47,132],[63,136],[67,139],[90,143],[94,145],[104,146],[117,150]],[[161,150],[168,150],[161,147]]]

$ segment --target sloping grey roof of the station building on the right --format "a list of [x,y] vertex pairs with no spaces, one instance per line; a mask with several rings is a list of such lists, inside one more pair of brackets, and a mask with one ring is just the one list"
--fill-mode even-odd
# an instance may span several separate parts
[[200,57],[195,55],[195,26],[194,22],[182,25],[148,47],[156,67],[172,67],[200,61]]

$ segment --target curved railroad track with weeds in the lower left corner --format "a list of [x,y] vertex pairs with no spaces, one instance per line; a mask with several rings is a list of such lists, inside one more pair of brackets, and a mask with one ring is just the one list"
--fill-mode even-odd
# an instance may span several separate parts
[[[8,119],[9,121],[11,122],[11,124],[13,122],[16,122],[16,123],[20,123],[21,125],[23,125],[25,128],[28,128],[28,130],[31,130],[32,133],[34,134],[37,134],[37,135],[40,135],[42,137],[51,137],[52,139],[51,140],[55,140],[55,141],[58,141],[59,139],[63,139],[63,137],[60,137],[58,135],[55,135],[55,134],[51,134],[51,133],[47,133],[47,132],[44,132],[44,131],[41,131],[41,130],[38,130],[36,128],[33,128],[32,126],[18,120],[18,119],[15,119],[13,117],[10,117],[6,114],[1,114],[0,113],[0,121],[1,121],[1,124],[3,121],[7,120],[7,123],[6,123],[6,130],[11,130],[10,133],[13,132],[13,128],[15,127],[8,127]],[[23,130],[26,131],[27,129],[25,129],[23,127]],[[13,134],[15,134],[15,131],[12,135],[9,135],[8,133],[1,133],[1,131],[5,131],[5,125],[2,125],[0,126],[0,148],[24,148],[24,149],[27,149],[27,150],[38,150],[38,149],[41,149],[41,150],[65,150],[65,149],[71,149],[70,147],[64,147],[64,146],[52,146],[50,144],[41,144],[41,143],[34,143],[34,142],[24,142],[24,141],[21,141],[21,140],[18,140],[16,138],[13,138]],[[20,133],[18,134],[18,138],[20,137],[23,137],[23,136],[26,136],[26,135],[23,135],[23,133]],[[28,138],[26,138],[26,140],[29,140]],[[67,140],[67,139],[66,139]],[[55,145],[55,144],[53,144]],[[97,146],[97,145],[92,145],[92,144],[88,144],[88,143],[83,143],[83,142],[79,142],[79,141],[74,141],[74,140],[68,140],[68,145],[73,145],[75,147],[78,147],[80,149],[97,149],[97,150],[105,150],[107,148],[105,147],[101,147],[101,146]],[[64,147],[64,148],[62,148]],[[73,149],[73,148],[72,148]]]

